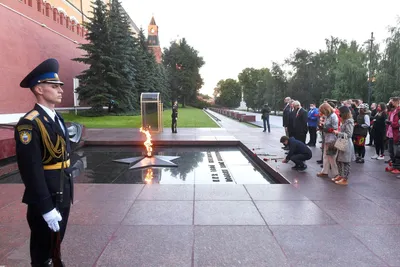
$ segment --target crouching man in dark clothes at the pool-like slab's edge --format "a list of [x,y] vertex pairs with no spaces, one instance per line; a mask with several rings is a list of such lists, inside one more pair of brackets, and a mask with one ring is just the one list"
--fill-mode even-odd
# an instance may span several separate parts
[[303,142],[294,139],[294,137],[282,136],[280,142],[289,147],[289,153],[282,162],[288,163],[290,160],[293,161],[296,165],[292,169],[297,171],[307,169],[307,165],[304,162],[312,157],[310,148]]

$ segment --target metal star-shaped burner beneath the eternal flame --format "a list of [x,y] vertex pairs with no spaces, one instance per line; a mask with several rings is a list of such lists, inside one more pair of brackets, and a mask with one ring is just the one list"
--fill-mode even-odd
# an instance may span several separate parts
[[115,162],[119,163],[127,163],[132,164],[129,169],[141,169],[147,167],[177,167],[175,163],[171,162],[171,160],[177,159],[177,156],[151,156],[151,157],[133,157],[133,158],[125,158],[125,159],[116,159]]

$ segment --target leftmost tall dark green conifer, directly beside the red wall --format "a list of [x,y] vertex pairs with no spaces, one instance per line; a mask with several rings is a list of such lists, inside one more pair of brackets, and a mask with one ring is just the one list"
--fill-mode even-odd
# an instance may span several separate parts
[[110,36],[106,5],[102,0],[95,0],[92,2],[92,8],[93,16],[89,23],[84,24],[88,30],[85,36],[88,43],[79,46],[86,54],[73,60],[89,66],[77,76],[79,87],[76,92],[79,94],[79,100],[90,105],[94,113],[100,114],[103,106],[112,98],[112,86],[107,82],[111,69]]

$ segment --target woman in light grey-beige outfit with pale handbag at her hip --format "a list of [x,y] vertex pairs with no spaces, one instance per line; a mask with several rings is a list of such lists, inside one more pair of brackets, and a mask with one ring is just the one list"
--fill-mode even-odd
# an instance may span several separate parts
[[339,175],[332,179],[338,185],[347,185],[347,179],[350,174],[350,162],[355,159],[354,145],[352,141],[354,131],[354,120],[348,107],[339,108],[339,117],[342,122],[340,131],[335,131],[338,139],[335,147],[338,149],[337,165]]

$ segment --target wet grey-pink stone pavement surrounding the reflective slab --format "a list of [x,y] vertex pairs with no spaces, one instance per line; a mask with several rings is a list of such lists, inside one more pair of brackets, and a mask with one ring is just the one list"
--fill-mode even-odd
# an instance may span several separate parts
[[[284,156],[282,128],[263,133],[213,114],[223,129],[166,129],[154,139],[238,139]],[[88,129],[86,138],[131,140],[132,130]],[[77,184],[67,266],[400,266],[400,179],[368,148],[349,186],[338,186],[316,177],[320,149],[312,150],[303,173],[268,163],[291,184]],[[0,185],[0,266],[29,266],[22,191]]]

